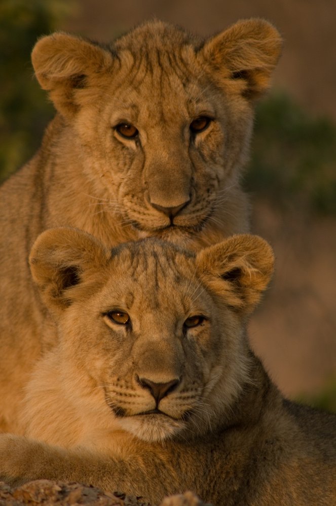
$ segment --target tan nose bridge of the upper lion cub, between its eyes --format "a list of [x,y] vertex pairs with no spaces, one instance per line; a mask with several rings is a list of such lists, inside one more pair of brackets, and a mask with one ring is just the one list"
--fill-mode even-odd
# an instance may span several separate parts
[[168,128],[153,132],[146,153],[145,181],[151,204],[178,207],[190,200],[192,164],[182,133]]

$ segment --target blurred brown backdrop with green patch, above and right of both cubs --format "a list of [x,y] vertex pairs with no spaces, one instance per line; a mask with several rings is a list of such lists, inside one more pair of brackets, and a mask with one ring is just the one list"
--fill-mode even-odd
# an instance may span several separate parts
[[[277,271],[251,321],[250,339],[285,394],[313,402],[317,396],[322,405],[327,397],[327,407],[336,410],[336,2],[50,0],[50,5],[57,11],[52,29],[103,42],[153,17],[204,36],[252,16],[280,30],[285,45],[275,91],[257,116],[252,149],[258,154],[246,175],[253,232],[274,247]],[[6,79],[11,82],[11,75]],[[269,176],[268,166],[277,174]],[[318,204],[311,205],[312,199]]]

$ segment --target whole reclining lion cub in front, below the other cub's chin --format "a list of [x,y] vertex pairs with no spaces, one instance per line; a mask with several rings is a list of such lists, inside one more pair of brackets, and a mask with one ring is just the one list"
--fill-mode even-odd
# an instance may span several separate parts
[[284,399],[248,346],[273,272],[263,239],[111,250],[62,227],[40,235],[30,265],[58,344],[27,382],[26,437],[0,435],[0,479],[151,503],[186,490],[229,506],[335,503],[336,418]]

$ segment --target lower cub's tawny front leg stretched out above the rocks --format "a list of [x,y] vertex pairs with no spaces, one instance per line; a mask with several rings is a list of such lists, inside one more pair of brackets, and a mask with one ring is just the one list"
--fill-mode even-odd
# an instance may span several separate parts
[[[165,483],[156,479],[165,476]],[[174,465],[140,451],[115,457],[84,448],[65,449],[14,434],[0,434],[0,481],[12,487],[33,480],[81,482],[104,491],[122,490],[159,503],[181,491]]]

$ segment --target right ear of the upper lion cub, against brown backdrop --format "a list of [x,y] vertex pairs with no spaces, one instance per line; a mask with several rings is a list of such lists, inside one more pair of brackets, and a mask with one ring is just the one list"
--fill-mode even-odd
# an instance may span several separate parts
[[269,87],[281,49],[282,38],[271,23],[246,19],[206,42],[200,54],[219,82],[239,81],[241,94],[253,99]]

